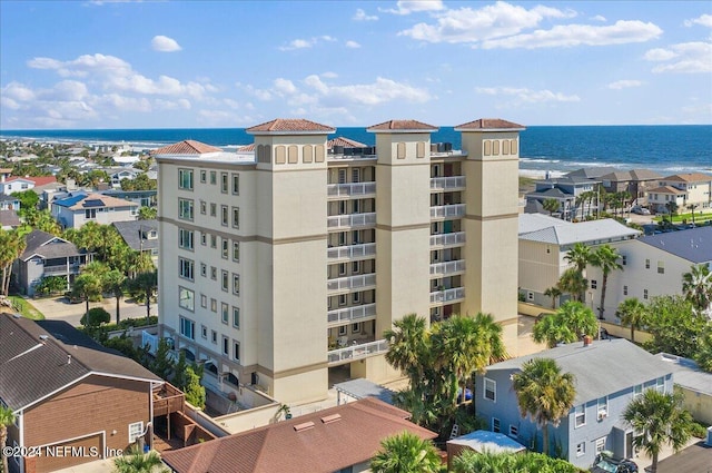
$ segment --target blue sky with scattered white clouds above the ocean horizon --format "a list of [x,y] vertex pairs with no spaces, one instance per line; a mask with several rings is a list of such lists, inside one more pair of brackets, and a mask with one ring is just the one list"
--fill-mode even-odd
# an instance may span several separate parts
[[0,0],[0,128],[712,124],[710,1]]

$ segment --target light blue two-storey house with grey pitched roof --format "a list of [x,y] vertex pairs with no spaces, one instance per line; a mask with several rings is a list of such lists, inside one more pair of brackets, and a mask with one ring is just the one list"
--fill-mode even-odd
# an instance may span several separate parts
[[533,358],[553,358],[563,373],[575,376],[574,406],[557,427],[548,425],[548,434],[551,453],[582,469],[604,450],[619,459],[632,457],[634,432],[622,418],[625,407],[644,390],[673,390],[672,367],[624,338],[571,343],[488,366],[475,378],[477,415],[493,432],[537,450],[542,430],[531,417],[522,417],[512,386],[513,375]]

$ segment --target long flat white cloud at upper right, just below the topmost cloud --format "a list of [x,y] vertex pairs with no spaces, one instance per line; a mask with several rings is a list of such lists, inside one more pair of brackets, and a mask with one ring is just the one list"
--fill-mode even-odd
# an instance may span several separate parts
[[663,33],[656,24],[642,21],[616,21],[615,24],[595,27],[590,24],[556,26],[551,30],[536,30],[530,35],[517,35],[510,38],[487,40],[483,49],[535,49],[561,48],[574,46],[607,46],[645,42],[657,39]]

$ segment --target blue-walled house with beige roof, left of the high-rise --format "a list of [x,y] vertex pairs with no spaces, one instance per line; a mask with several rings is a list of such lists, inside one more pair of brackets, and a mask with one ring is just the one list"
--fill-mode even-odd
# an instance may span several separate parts
[[109,225],[135,220],[138,204],[102,194],[76,193],[52,203],[52,216],[62,228],[81,228],[87,221]]

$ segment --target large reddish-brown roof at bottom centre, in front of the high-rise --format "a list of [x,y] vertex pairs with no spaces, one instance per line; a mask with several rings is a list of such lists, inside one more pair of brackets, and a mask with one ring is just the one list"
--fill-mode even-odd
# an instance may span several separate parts
[[178,473],[330,473],[366,462],[387,436],[409,431],[437,435],[408,422],[409,414],[373,397],[290,421],[166,452]]

